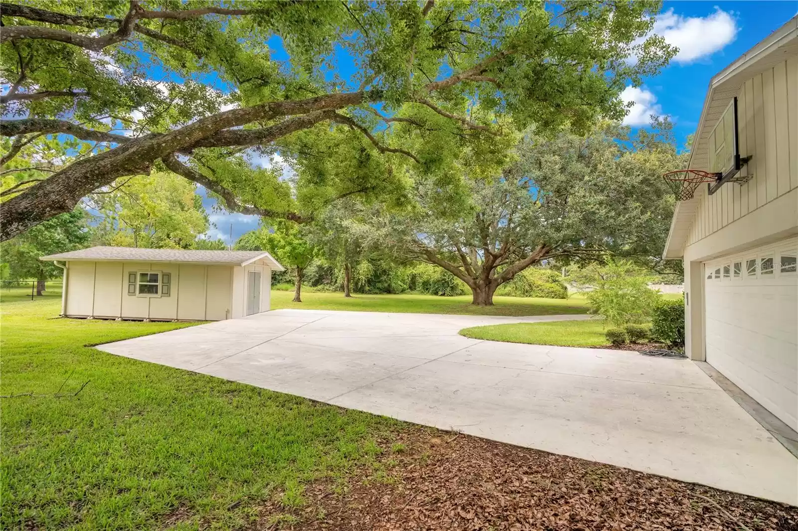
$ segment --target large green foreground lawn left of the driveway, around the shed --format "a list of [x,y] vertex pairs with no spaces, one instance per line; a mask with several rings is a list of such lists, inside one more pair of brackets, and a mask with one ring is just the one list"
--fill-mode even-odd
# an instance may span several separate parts
[[84,346],[186,323],[57,318],[56,289],[0,300],[0,394],[48,395],[0,399],[0,529],[166,529],[176,513],[175,529],[240,529],[403,426]]

